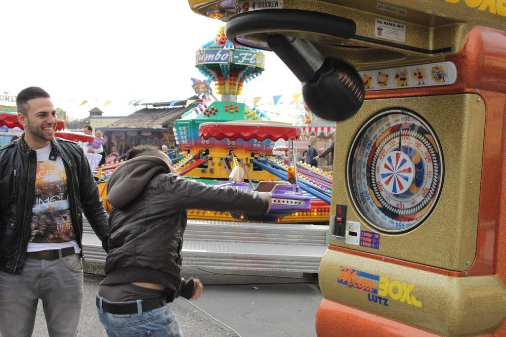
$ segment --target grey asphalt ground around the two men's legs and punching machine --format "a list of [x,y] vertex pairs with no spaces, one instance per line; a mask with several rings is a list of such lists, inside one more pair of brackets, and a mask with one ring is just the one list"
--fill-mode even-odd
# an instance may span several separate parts
[[[90,268],[85,268],[86,270]],[[100,267],[95,270],[100,270]],[[305,279],[298,273],[209,271],[248,275],[223,275],[197,268],[183,269],[183,277],[193,276],[204,284],[200,299],[190,302],[199,309],[182,298],[172,303],[186,336],[315,335],[316,310],[323,299],[317,280]],[[78,336],[107,336],[95,307],[95,296],[102,279],[101,275],[85,273]],[[40,302],[33,336],[48,336]]]

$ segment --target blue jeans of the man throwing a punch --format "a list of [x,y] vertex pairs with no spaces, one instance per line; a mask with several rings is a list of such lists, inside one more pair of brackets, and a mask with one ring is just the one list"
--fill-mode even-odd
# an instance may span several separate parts
[[[102,301],[109,302],[98,295],[97,297]],[[109,337],[183,337],[183,332],[179,328],[174,311],[168,304],[146,312],[142,312],[142,307],[139,305],[139,312],[135,314],[111,314],[102,311],[100,308],[97,308],[97,312],[100,323],[104,326]]]

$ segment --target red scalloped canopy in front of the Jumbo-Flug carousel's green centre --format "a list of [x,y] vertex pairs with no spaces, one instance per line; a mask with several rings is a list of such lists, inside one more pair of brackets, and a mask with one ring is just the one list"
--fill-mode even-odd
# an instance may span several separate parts
[[224,122],[224,123],[202,123],[199,125],[198,134],[204,139],[214,137],[218,140],[228,138],[230,140],[251,140],[263,141],[270,139],[298,139],[301,135],[301,128],[284,123],[251,123],[251,122]]

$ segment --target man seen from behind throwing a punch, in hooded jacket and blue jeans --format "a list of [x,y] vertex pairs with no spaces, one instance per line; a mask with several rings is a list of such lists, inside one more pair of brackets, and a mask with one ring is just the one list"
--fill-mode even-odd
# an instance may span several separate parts
[[182,334],[167,302],[197,299],[198,279],[181,279],[186,209],[266,214],[270,193],[221,189],[177,175],[161,150],[133,148],[107,182],[109,254],[97,311],[109,336]]

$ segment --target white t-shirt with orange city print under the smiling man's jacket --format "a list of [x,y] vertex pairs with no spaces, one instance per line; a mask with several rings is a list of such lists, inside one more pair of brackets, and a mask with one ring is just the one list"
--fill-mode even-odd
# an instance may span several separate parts
[[51,144],[35,151],[35,197],[27,251],[74,247],[76,254],[79,254],[81,250],[72,227],[63,160],[59,156],[56,160],[49,160]]

